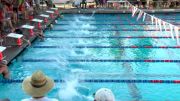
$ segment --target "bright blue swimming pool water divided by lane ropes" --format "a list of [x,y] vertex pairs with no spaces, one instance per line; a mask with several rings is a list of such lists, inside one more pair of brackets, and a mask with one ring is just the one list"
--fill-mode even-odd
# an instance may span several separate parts
[[[180,24],[179,13],[156,16]],[[42,70],[62,80],[49,94],[60,101],[92,101],[101,87],[110,88],[116,101],[180,100],[179,84],[129,82],[180,78],[179,47],[150,23],[136,21],[130,14],[65,14],[45,32],[45,41],[35,41],[13,61],[12,79]],[[21,83],[0,83],[0,88],[0,98],[28,97]]]

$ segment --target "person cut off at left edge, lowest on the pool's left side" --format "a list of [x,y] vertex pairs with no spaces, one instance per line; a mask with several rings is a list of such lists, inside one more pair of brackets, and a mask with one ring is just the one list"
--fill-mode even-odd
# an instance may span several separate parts
[[0,73],[3,75],[3,78],[9,79],[9,70],[6,60],[2,60],[0,63]]

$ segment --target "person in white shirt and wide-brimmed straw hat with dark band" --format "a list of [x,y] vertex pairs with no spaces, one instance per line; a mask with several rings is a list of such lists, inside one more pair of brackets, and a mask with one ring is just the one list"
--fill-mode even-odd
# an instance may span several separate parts
[[42,71],[36,71],[32,76],[23,80],[22,89],[32,98],[21,101],[58,101],[57,99],[45,97],[53,88],[54,80],[46,76]]

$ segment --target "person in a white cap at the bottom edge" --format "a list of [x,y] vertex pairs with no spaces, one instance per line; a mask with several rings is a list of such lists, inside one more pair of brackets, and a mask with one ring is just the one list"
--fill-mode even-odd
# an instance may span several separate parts
[[101,88],[95,93],[94,101],[115,101],[115,98],[110,89]]

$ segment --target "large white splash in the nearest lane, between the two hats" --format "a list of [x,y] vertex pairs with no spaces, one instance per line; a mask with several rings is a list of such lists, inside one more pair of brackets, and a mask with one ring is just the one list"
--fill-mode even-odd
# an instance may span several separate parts
[[62,101],[90,101],[89,89],[81,86],[78,79],[71,75],[71,80],[66,80],[59,90],[59,98]]

